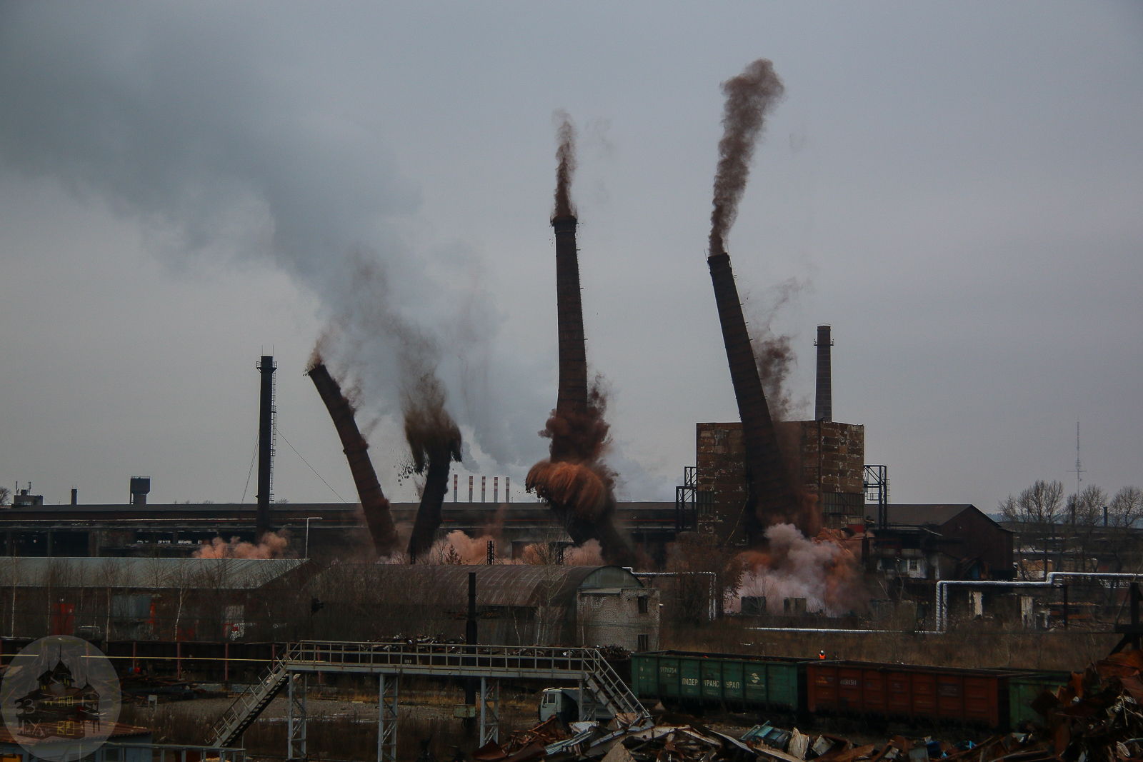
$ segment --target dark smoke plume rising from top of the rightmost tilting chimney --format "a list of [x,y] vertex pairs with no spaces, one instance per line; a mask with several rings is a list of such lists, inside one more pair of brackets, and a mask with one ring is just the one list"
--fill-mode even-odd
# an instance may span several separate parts
[[738,216],[738,201],[746,190],[750,162],[762,131],[766,112],[785,91],[774,64],[759,58],[722,82],[726,106],[722,139],[718,144],[714,174],[714,209],[711,211],[711,254],[722,251],[726,234]]

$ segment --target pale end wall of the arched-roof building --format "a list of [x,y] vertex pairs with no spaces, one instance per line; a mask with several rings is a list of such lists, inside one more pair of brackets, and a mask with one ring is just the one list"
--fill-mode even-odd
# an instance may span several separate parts
[[[646,600],[646,612],[640,611],[640,597]],[[576,624],[581,645],[622,645],[629,651],[656,651],[658,591],[650,587],[581,591],[576,601]]]

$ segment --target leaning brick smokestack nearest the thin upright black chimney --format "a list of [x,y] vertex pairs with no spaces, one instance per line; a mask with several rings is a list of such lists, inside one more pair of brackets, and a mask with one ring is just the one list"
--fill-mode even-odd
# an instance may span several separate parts
[[373,463],[369,460],[367,451],[369,444],[361,436],[353,418],[353,407],[342,394],[342,387],[329,375],[325,363],[319,361],[309,372],[318,394],[321,395],[321,401],[329,410],[329,417],[334,419],[337,436],[342,440],[345,457],[350,462],[350,473],[353,474],[353,483],[357,484],[358,499],[361,500],[361,512],[373,537],[373,546],[377,555],[392,555],[397,546],[397,527],[389,513],[389,500],[381,491],[377,472],[373,470]]

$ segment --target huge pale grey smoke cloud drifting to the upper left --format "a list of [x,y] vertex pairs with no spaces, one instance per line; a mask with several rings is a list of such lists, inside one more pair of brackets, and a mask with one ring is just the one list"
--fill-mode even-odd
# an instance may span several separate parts
[[[497,342],[504,315],[473,275],[479,258],[418,235],[419,192],[374,114],[327,97],[317,73],[283,73],[283,29],[288,42],[288,24],[239,6],[205,23],[177,3],[0,5],[0,71],[19,72],[0,77],[0,171],[106,204],[174,271],[279,267],[335,324],[325,354],[352,376],[362,414],[402,416],[401,390],[427,356],[415,356],[409,331],[431,330],[429,364],[453,415],[485,454],[522,471],[550,369]],[[382,321],[392,330],[373,322],[362,259],[393,284]]]

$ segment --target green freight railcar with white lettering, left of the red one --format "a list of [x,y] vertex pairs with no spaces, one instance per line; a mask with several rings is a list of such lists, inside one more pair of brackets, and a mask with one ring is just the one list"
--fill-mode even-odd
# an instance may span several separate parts
[[631,689],[641,699],[798,711],[804,659],[657,651],[631,656]]

